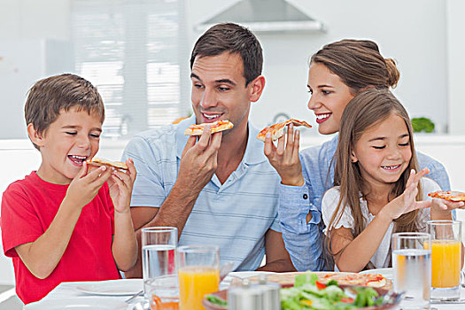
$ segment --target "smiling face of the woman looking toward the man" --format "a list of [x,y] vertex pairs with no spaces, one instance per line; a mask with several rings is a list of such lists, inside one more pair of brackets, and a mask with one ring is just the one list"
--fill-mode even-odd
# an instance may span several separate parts
[[339,131],[345,105],[354,97],[351,89],[322,63],[310,65],[307,86],[311,94],[308,108],[314,111],[320,134]]

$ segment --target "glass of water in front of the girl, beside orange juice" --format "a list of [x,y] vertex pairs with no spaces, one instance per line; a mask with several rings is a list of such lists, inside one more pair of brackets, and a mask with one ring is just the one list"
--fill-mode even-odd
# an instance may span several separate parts
[[402,309],[430,306],[431,251],[427,233],[396,233],[392,235],[392,267],[394,291],[405,292]]

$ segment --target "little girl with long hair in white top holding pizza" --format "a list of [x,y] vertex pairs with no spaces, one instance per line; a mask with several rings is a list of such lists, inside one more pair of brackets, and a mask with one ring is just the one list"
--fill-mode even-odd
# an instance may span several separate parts
[[425,231],[426,221],[452,220],[464,205],[425,200],[440,188],[423,177],[428,168],[418,170],[410,119],[389,90],[368,89],[345,107],[335,157],[322,218],[340,271],[390,267],[393,232]]

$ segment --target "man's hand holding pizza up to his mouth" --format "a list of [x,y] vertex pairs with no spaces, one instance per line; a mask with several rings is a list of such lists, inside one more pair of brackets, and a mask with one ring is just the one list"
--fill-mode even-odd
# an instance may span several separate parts
[[198,195],[210,182],[218,167],[218,150],[221,146],[222,132],[211,134],[210,126],[205,126],[198,143],[196,136],[190,136],[182,151],[181,163],[176,185],[182,190],[190,190]]

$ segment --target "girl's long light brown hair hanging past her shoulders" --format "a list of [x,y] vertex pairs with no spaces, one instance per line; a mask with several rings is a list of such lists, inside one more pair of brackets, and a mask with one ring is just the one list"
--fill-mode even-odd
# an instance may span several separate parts
[[[351,102],[345,107],[342,115],[341,126],[339,128],[339,140],[337,143],[336,151],[336,169],[334,174],[334,185],[340,187],[340,197],[337,203],[335,213],[329,221],[329,251],[331,254],[337,255],[338,253],[332,252],[330,249],[331,235],[340,221],[345,208],[350,209],[354,221],[354,236],[360,233],[366,227],[366,220],[361,213],[360,208],[360,193],[363,198],[366,198],[369,193],[364,192],[364,189],[369,188],[360,174],[359,163],[353,163],[351,154],[354,151],[355,144],[359,141],[360,136],[368,129],[376,126],[383,120],[386,120],[392,114],[399,115],[407,126],[408,135],[410,137],[410,149],[412,151],[412,158],[406,170],[400,175],[399,180],[392,184],[389,198],[398,197],[401,195],[407,184],[407,179],[412,169],[418,171],[418,163],[415,154],[415,145],[413,141],[413,129],[408,117],[408,113],[399,100],[392,95],[391,91],[387,89],[368,89],[361,92],[356,97],[353,97]],[[417,200],[422,199],[422,188],[418,184]],[[419,223],[417,221],[418,210],[401,215],[398,219],[394,220],[394,231],[418,231]],[[342,251],[342,250],[341,250]]]

